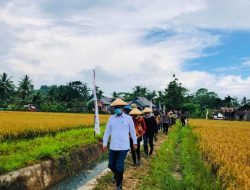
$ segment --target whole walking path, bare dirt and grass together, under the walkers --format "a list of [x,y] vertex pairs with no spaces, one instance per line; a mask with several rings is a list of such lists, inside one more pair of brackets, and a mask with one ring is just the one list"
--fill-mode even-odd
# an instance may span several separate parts
[[[143,155],[143,153],[142,153]],[[155,152],[148,160],[142,158],[140,167],[132,167],[131,156],[126,160],[124,190],[216,190],[219,180],[202,160],[197,137],[188,127],[179,124],[170,129],[169,135],[160,135]],[[98,180],[95,190],[113,190],[112,173]]]

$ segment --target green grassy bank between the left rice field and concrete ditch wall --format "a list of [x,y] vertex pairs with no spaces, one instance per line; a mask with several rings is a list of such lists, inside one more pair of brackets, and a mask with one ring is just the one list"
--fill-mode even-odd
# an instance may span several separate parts
[[94,138],[93,128],[72,129],[45,135],[34,139],[5,141],[0,143],[0,174],[37,163],[46,158],[57,158],[70,149],[90,145],[102,139],[102,134]]

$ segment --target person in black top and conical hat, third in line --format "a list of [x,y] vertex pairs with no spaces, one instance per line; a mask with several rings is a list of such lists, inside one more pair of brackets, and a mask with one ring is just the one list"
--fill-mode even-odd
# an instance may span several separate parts
[[[157,123],[154,116],[151,116],[152,109],[146,107],[143,111],[145,113],[144,121],[146,124],[146,131],[143,135],[143,145],[146,158],[153,153],[154,150],[154,135],[157,133]],[[150,151],[148,152],[148,143]]]

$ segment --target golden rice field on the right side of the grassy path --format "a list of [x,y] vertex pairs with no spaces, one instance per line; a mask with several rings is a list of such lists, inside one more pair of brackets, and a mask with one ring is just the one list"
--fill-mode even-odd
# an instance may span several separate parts
[[191,120],[223,189],[250,189],[250,122]]

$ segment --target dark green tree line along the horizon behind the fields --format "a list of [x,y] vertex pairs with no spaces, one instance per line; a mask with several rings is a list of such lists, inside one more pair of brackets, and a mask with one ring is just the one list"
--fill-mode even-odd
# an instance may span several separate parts
[[[38,111],[48,112],[92,112],[93,93],[87,83],[72,81],[63,85],[42,85],[34,89],[28,75],[20,79],[16,86],[6,73],[0,74],[0,108],[7,110],[25,110],[25,105],[33,104]],[[103,91],[97,87],[97,98],[103,97]],[[178,78],[173,80],[162,91],[151,91],[143,86],[135,86],[129,92],[113,92],[112,98],[121,97],[130,101],[136,97],[145,97],[154,104],[165,105],[168,110],[183,110],[192,117],[203,117],[206,110],[221,107],[239,107],[250,103],[243,97],[239,100],[230,95],[220,98],[217,93],[200,88],[195,93],[183,87]]]

